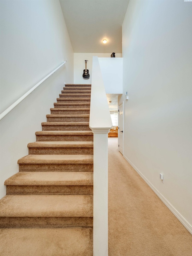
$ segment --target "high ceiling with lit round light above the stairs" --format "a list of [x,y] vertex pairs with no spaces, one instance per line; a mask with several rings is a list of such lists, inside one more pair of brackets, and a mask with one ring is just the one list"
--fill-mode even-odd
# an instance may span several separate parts
[[122,23],[129,0],[60,3],[74,53],[122,53]]

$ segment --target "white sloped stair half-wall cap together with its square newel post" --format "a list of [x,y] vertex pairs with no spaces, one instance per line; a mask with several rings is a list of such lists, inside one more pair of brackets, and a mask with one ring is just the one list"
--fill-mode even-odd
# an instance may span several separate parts
[[89,127],[93,132],[93,255],[108,255],[109,106],[97,56],[93,56]]

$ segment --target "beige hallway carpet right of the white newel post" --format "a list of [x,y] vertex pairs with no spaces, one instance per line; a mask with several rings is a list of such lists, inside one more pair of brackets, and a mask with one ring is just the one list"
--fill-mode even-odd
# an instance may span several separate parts
[[191,234],[108,141],[109,256],[191,256]]

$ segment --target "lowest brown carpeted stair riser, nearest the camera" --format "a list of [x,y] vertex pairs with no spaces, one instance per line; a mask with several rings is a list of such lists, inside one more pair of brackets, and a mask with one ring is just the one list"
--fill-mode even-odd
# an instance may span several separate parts
[[0,217],[0,227],[92,227],[93,217]]

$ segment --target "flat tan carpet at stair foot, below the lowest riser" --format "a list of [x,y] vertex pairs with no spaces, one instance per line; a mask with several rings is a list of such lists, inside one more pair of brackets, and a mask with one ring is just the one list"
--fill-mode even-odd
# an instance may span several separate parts
[[1,228],[1,256],[92,256],[91,227]]

